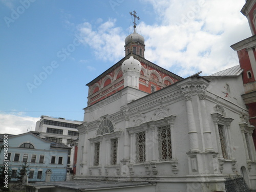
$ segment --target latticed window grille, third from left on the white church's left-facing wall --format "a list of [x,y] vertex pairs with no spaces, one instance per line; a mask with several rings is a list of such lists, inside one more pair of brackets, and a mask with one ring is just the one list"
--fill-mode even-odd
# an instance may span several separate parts
[[145,146],[145,132],[136,133],[136,163],[143,163],[146,160]]

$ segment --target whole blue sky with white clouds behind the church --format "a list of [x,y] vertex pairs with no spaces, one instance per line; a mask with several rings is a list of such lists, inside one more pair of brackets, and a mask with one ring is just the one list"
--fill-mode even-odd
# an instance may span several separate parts
[[0,0],[0,133],[41,115],[82,120],[86,83],[124,57],[140,20],[145,58],[187,77],[239,64],[230,45],[251,35],[244,0]]

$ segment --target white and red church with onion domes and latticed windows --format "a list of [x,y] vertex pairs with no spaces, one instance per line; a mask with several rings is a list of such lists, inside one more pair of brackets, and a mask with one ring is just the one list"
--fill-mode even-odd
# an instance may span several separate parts
[[248,72],[241,65],[184,79],[165,70],[145,59],[131,15],[125,57],[87,84],[75,179],[144,182],[136,191],[240,191],[234,183],[256,190]]

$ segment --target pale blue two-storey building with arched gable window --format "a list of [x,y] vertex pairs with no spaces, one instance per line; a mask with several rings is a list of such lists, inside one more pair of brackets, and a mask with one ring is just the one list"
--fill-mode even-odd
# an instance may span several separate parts
[[[40,138],[38,132],[20,135],[0,135],[0,147],[8,136],[8,165],[12,169],[11,181],[16,181],[18,169],[27,162],[28,181],[65,181],[70,147]],[[2,149],[0,164],[6,151]]]

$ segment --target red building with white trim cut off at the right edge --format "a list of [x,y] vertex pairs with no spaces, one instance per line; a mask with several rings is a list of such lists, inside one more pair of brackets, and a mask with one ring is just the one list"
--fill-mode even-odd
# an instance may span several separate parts
[[[256,127],[256,1],[247,0],[241,12],[247,17],[252,36],[237,42],[231,48],[236,50],[240,67],[243,69],[245,94],[242,95],[249,111],[249,122]],[[256,132],[253,132],[256,146]]]

